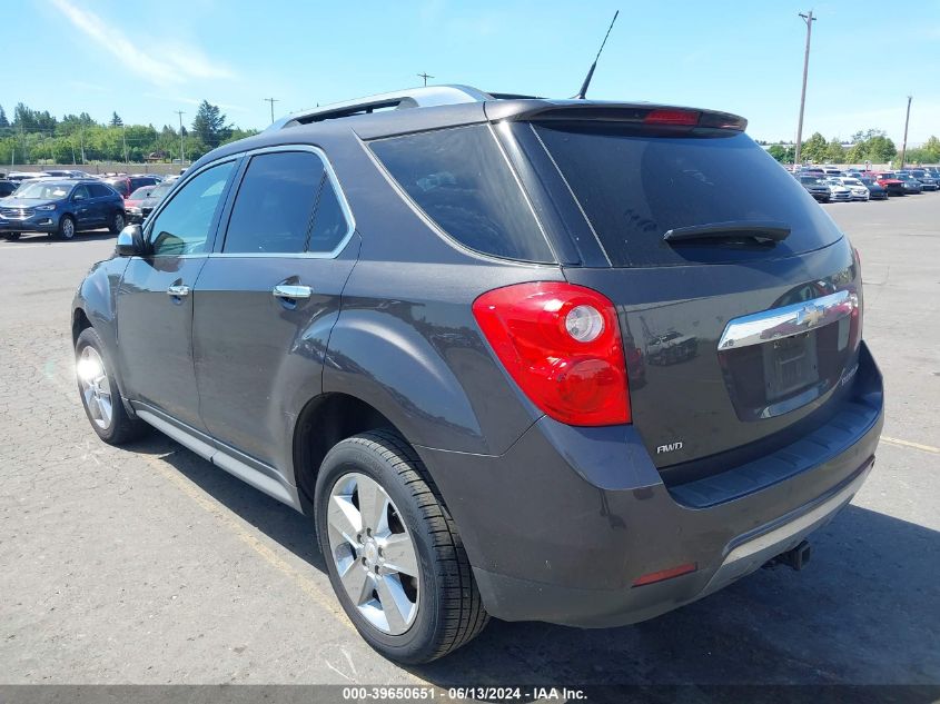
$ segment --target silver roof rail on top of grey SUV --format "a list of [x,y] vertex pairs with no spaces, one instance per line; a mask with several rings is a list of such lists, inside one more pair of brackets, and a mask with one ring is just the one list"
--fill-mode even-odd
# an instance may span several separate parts
[[356,98],[344,102],[293,112],[275,120],[265,131],[270,132],[296,125],[309,125],[321,120],[366,115],[376,110],[402,110],[404,108],[431,108],[435,106],[457,105],[461,102],[483,102],[493,100],[493,96],[469,86],[427,86],[409,88],[395,92]]

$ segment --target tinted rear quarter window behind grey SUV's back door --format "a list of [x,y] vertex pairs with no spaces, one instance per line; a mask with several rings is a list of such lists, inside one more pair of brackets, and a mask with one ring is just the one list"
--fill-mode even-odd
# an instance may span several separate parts
[[486,126],[379,139],[370,146],[412,200],[465,247],[507,259],[554,261]]

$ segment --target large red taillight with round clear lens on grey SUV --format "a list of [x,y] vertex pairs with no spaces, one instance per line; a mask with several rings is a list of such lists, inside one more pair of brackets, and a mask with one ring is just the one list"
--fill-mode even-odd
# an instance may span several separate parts
[[473,304],[493,350],[523,393],[568,425],[630,423],[626,365],[613,304],[590,288],[517,284]]

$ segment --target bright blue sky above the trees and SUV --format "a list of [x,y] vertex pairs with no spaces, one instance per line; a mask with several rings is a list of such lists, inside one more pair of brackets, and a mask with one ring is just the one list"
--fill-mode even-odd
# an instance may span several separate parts
[[[621,10],[588,96],[735,112],[793,140],[810,9],[789,0],[2,0],[0,105],[99,121],[191,122],[202,99],[230,122],[432,83],[574,95]],[[882,129],[940,136],[940,0],[829,0],[813,8],[804,139]]]

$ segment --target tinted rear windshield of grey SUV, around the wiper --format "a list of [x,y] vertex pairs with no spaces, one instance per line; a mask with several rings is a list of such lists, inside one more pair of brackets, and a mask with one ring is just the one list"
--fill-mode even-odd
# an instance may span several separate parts
[[[677,136],[610,123],[534,129],[615,267],[785,257],[840,237],[800,182],[744,133]],[[663,240],[673,228],[731,221],[783,222],[791,232],[772,248]]]

